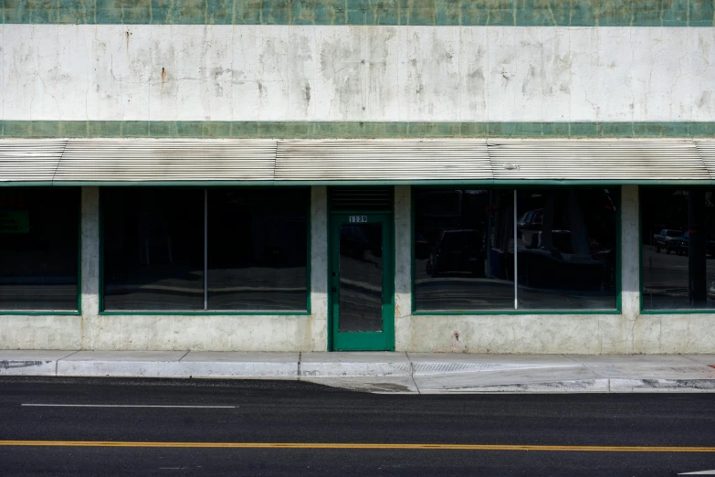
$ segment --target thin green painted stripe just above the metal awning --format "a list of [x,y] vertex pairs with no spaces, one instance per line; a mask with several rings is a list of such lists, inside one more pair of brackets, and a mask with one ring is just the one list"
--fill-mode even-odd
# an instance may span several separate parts
[[0,137],[715,137],[715,122],[3,121]]

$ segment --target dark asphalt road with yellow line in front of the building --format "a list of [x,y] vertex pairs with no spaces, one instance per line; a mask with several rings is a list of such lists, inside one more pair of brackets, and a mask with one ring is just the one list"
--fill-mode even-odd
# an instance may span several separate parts
[[[298,382],[18,377],[0,378],[0,389],[2,476],[654,477],[715,470],[712,394],[401,396]],[[28,442],[37,440],[46,442]],[[345,443],[379,448],[340,448]],[[472,447],[457,450],[462,444]],[[514,447],[522,445],[533,447]],[[654,446],[668,449],[647,449]]]

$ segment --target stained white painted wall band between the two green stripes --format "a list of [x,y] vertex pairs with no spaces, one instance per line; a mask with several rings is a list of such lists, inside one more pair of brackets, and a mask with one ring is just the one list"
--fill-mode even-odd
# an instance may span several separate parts
[[715,28],[4,25],[0,34],[5,120],[715,120]]

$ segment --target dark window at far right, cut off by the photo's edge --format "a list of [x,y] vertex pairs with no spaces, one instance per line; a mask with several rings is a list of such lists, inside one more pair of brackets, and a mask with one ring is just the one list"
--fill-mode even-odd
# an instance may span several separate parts
[[715,197],[706,189],[642,188],[644,310],[715,308]]

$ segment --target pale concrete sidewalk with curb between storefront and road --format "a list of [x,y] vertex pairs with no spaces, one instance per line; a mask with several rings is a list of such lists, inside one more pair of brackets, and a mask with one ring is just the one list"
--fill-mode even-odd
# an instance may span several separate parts
[[0,376],[291,379],[376,393],[715,392],[715,355],[0,350]]

